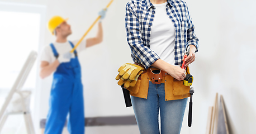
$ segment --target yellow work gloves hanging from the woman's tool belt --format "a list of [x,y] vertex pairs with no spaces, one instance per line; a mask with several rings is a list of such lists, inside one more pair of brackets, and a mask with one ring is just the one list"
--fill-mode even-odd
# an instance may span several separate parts
[[139,75],[143,73],[144,68],[135,64],[124,64],[119,69],[119,74],[116,76],[116,80],[118,81],[118,85],[125,84],[125,88],[134,87]]

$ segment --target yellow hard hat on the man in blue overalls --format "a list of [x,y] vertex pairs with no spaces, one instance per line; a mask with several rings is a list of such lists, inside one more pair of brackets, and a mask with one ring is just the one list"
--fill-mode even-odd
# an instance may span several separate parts
[[68,20],[68,18],[64,19],[60,16],[54,16],[48,22],[48,29],[54,35],[55,28],[58,27],[62,22],[67,21],[67,20]]

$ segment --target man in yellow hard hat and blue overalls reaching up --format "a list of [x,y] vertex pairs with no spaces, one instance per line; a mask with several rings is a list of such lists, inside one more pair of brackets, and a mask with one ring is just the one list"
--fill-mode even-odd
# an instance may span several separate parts
[[[106,11],[99,12],[101,20]],[[77,49],[70,53],[78,41],[68,41],[72,30],[60,16],[54,16],[48,23],[50,32],[56,36],[56,41],[46,46],[41,56],[42,79],[53,74],[53,84],[50,93],[50,108],[46,119],[45,133],[60,134],[63,131],[67,115],[68,131],[72,134],[84,133],[83,85],[78,53],[86,47],[102,42],[103,31],[101,21],[98,23],[98,33],[80,43]]]

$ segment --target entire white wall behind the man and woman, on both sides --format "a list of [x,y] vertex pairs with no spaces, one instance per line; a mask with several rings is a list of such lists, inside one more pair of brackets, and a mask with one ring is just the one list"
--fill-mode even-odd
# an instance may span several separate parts
[[[40,4],[47,7],[45,20],[44,45],[54,41],[46,28],[50,17],[60,15],[68,17],[73,34],[69,40],[79,39],[97,17],[98,11],[108,1],[57,1],[57,0],[1,0],[0,2],[18,2]],[[82,65],[86,116],[121,116],[133,114],[132,108],[125,108],[121,88],[116,80],[118,66],[130,63],[130,50],[125,34],[125,4],[128,0],[116,0],[107,11],[103,20],[104,41],[79,55]],[[205,133],[208,107],[214,104],[215,93],[224,96],[231,131],[233,133],[253,133],[256,124],[255,71],[256,46],[255,8],[253,0],[245,1],[187,1],[189,12],[196,26],[200,48],[196,61],[191,65],[195,78],[193,87],[193,122],[187,127],[187,111],[184,117],[182,133]],[[97,26],[87,37],[96,35]],[[40,46],[42,49],[42,46]],[[98,61],[108,65],[109,70],[93,70],[101,66]],[[111,68],[110,68],[111,67]],[[105,71],[105,73],[99,73]],[[89,79],[90,72],[103,80]],[[51,78],[41,80],[37,89],[40,94],[39,118],[45,118],[48,112],[48,97]],[[38,123],[36,123],[38,125]]]

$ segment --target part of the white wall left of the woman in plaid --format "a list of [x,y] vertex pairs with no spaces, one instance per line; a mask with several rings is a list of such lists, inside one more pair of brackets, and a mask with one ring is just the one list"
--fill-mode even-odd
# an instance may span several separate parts
[[[105,8],[109,1],[0,1],[17,4],[34,4],[46,6],[45,37],[39,47],[39,53],[45,45],[55,40],[47,29],[48,20],[60,15],[69,18],[73,34],[69,40],[78,40],[97,18],[98,12]],[[131,63],[129,46],[126,45],[125,33],[125,4],[127,1],[114,1],[103,20],[103,42],[90,47],[79,54],[82,65],[84,100],[86,117],[97,116],[126,116],[134,114],[132,108],[125,108],[122,90],[117,85],[115,77],[117,69],[124,63]],[[96,35],[97,25],[87,37]],[[124,50],[121,50],[121,49]],[[29,48],[28,48],[29,49]],[[40,54],[39,54],[40,55]],[[122,56],[124,55],[124,56]],[[126,56],[125,56],[126,55]],[[96,70],[94,66],[102,70]],[[106,66],[106,68],[103,68]],[[37,65],[38,67],[38,65]],[[102,73],[105,72],[105,73]],[[94,75],[92,75],[94,74]],[[101,78],[101,79],[98,79]],[[35,100],[36,112],[35,127],[39,126],[39,119],[46,118],[49,108],[49,94],[52,76],[37,83]],[[38,101],[39,100],[39,101]]]

